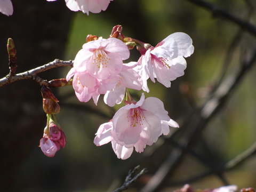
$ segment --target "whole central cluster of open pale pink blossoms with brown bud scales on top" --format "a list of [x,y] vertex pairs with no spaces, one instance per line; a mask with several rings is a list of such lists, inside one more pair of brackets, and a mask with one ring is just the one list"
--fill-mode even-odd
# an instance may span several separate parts
[[[91,98],[97,105],[99,95],[104,94],[105,103],[112,107],[123,101],[113,119],[100,125],[94,143],[97,146],[111,141],[118,158],[129,158],[135,151],[141,153],[162,134],[169,133],[169,126],[179,127],[157,98],[147,98],[142,93],[136,102],[129,89],[149,92],[147,80],[166,87],[184,74],[186,57],[194,52],[191,38],[184,33],[174,33],[156,47],[136,39],[125,37],[121,26],[115,26],[108,39],[89,35],[74,60],[74,67],[67,74],[73,77],[73,87],[79,101]],[[123,63],[130,56],[129,49],[137,46],[141,57],[138,62]]]

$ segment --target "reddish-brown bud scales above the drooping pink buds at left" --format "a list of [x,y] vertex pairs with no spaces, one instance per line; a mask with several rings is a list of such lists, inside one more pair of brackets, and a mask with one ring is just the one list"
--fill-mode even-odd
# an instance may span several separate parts
[[46,114],[57,114],[60,112],[60,106],[58,104],[58,99],[54,97],[52,91],[43,86],[41,89],[43,97],[43,109]]

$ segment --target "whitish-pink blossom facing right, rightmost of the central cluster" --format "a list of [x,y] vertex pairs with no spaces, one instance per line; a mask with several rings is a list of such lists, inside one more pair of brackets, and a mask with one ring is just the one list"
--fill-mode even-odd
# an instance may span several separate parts
[[148,78],[154,83],[156,78],[159,83],[170,87],[171,81],[184,75],[185,58],[193,52],[192,39],[185,33],[171,34],[156,47],[150,47],[139,59],[140,65],[134,68],[142,77],[142,89],[149,92]]

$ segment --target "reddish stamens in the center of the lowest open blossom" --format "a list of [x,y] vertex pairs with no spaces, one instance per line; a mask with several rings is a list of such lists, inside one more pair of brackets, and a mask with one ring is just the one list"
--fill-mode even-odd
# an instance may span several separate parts
[[127,116],[127,118],[128,122],[130,122],[130,126],[135,127],[136,124],[143,125],[143,121],[146,117],[143,116],[140,107],[137,107],[129,110],[129,116]]

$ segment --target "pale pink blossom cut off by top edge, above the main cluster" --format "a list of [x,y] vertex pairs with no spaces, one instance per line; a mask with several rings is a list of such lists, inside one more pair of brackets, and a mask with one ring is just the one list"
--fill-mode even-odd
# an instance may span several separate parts
[[[56,0],[46,0],[49,2]],[[71,11],[82,11],[83,13],[89,12],[99,13],[105,11],[110,3],[113,0],[65,0],[67,7]]]

